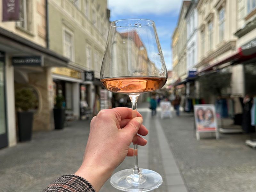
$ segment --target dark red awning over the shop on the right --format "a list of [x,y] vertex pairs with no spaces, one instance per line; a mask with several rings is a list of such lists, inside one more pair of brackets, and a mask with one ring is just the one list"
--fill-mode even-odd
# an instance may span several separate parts
[[226,58],[224,60],[221,60],[220,62],[217,62],[217,63],[215,63],[213,65],[209,65],[209,66],[204,67],[203,69],[198,71],[197,74],[200,74],[200,73],[205,72],[205,71],[210,71],[213,68],[218,67],[218,66],[220,66],[220,65],[222,65],[224,63],[228,63],[228,62],[230,62],[230,64],[243,63],[244,61],[247,61],[247,60],[250,60],[250,59],[253,59],[253,58],[256,58],[256,53],[253,53],[251,55],[244,55],[243,51],[242,51],[242,49],[240,47],[238,49],[238,52],[235,53],[234,55],[231,55],[228,58]]

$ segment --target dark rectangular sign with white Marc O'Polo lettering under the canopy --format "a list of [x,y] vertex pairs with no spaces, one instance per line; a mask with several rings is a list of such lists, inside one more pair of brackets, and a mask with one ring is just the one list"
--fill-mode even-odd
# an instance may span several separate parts
[[43,66],[43,57],[29,56],[29,57],[12,57],[13,66]]

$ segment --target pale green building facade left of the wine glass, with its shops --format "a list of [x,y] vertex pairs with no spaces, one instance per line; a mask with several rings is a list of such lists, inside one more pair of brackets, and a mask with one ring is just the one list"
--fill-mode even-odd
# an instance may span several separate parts
[[[54,94],[62,91],[68,111],[82,116],[81,107],[95,109],[100,97],[109,10],[107,0],[49,0],[49,48],[70,61],[68,68],[53,68]],[[88,73],[93,72],[93,73]],[[94,78],[88,79],[92,75]]]

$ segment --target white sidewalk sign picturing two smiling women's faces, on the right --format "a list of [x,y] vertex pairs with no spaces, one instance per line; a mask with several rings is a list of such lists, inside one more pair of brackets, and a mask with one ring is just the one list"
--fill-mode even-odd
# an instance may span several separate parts
[[213,104],[194,105],[194,116],[197,140],[200,140],[199,133],[202,132],[215,132],[216,139],[220,138]]

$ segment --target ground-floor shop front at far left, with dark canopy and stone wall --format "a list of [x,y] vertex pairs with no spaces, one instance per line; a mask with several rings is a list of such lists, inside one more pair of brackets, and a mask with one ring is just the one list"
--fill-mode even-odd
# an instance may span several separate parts
[[[33,131],[52,130],[51,67],[68,65],[68,59],[28,39],[0,28],[0,148],[14,146],[20,127],[15,92],[29,88],[36,95]],[[23,110],[23,109],[21,109]],[[23,110],[24,111],[24,110]]]

